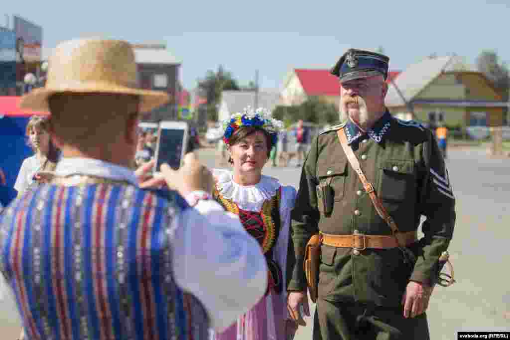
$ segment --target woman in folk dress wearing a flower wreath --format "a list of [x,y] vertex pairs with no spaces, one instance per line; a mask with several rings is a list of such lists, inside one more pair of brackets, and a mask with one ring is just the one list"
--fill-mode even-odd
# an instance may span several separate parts
[[225,210],[239,216],[244,228],[262,247],[268,265],[265,296],[237,319],[216,340],[280,340],[292,337],[297,326],[287,314],[290,212],[296,191],[276,178],[262,175],[271,147],[276,144],[281,121],[268,111],[250,108],[223,123],[223,141],[230,153],[233,172],[214,170],[215,199]]

